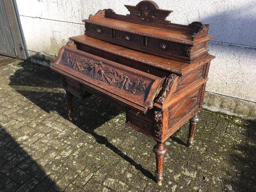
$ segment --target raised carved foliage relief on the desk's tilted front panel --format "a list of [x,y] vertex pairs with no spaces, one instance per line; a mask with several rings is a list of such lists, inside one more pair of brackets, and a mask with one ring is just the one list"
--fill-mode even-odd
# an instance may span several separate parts
[[84,72],[86,75],[110,85],[118,86],[120,89],[130,91],[133,94],[144,94],[147,88],[146,82],[138,78],[133,79],[119,70],[105,66],[103,62],[92,58],[80,58],[73,54],[64,53],[62,56],[64,65],[74,70]]

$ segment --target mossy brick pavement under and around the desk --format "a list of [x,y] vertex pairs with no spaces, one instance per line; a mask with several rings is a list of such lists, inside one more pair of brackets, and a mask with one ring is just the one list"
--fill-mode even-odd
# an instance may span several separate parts
[[167,140],[164,181],[153,181],[154,140],[96,96],[75,98],[68,122],[60,77],[29,62],[0,67],[0,192],[256,191],[256,124],[202,110]]

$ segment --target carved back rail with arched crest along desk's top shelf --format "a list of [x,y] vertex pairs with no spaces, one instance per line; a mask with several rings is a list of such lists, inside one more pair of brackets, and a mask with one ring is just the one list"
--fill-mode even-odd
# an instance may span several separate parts
[[[112,9],[99,10],[94,16],[90,15],[90,20],[94,18],[112,18],[126,22],[133,22],[138,24],[146,24],[148,26],[166,28],[171,30],[178,30],[191,34],[190,40],[176,40],[173,38],[171,41],[182,44],[190,44],[191,40],[206,36],[209,29],[209,24],[202,24],[201,22],[192,22],[189,25],[177,25],[166,20],[166,17],[172,10],[160,9],[158,5],[152,0],[143,0],[136,6],[125,5],[130,14],[126,16],[116,14]],[[86,22],[86,20],[83,20]],[[130,31],[132,32],[132,30]],[[158,37],[156,37],[158,38]],[[162,46],[164,48],[165,45]]]

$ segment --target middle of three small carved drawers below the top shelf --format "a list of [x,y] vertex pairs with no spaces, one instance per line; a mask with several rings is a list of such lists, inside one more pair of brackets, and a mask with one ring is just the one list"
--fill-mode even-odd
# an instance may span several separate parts
[[128,44],[136,44],[139,46],[143,46],[143,36],[141,35],[132,34],[120,30],[115,30],[114,34],[114,38],[116,40],[120,40]]

